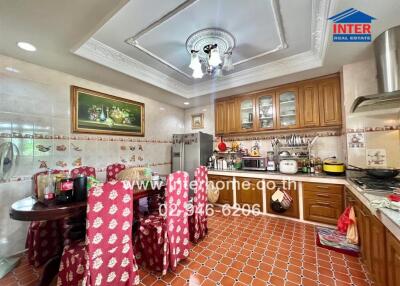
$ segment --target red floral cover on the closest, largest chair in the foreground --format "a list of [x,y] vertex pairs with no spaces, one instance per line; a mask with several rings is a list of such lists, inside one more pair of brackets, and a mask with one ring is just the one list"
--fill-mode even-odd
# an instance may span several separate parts
[[133,192],[127,181],[89,191],[86,242],[64,247],[57,285],[137,285],[132,250]]

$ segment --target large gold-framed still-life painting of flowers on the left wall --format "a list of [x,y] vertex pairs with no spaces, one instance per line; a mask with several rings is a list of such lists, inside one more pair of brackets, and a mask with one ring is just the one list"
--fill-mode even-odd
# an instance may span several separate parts
[[71,86],[72,132],[144,136],[144,103]]

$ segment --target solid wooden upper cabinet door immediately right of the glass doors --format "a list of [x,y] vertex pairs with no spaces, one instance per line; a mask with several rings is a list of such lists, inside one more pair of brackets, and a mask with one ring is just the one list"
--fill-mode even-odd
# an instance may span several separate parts
[[316,82],[305,83],[299,90],[300,127],[318,127],[319,118],[319,94]]

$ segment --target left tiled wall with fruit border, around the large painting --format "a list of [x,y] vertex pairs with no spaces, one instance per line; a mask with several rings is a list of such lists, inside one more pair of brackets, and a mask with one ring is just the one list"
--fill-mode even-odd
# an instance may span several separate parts
[[[7,66],[20,72],[6,71]],[[143,102],[146,136],[72,134],[70,85]],[[11,141],[21,152],[15,175],[0,182],[0,257],[23,248],[26,224],[11,221],[8,209],[31,193],[30,178],[41,164],[72,169],[80,161],[96,167],[100,179],[116,162],[150,165],[165,174],[171,169],[172,134],[183,132],[183,109],[0,55],[0,144]]]

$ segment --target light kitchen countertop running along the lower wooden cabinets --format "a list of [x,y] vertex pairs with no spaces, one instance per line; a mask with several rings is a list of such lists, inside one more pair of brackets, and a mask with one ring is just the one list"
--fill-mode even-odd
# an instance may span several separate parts
[[373,208],[371,201],[385,198],[385,195],[375,195],[363,191],[346,176],[330,176],[326,174],[282,174],[279,172],[248,171],[248,170],[209,170],[209,175],[247,177],[256,179],[291,180],[297,182],[327,183],[345,185],[393,235],[400,240],[400,212],[387,208]]

